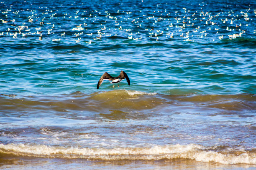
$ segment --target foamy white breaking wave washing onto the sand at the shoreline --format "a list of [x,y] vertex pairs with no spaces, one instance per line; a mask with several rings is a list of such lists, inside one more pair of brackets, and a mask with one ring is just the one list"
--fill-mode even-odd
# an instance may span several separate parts
[[[224,148],[224,149],[223,149]],[[216,151],[220,150],[220,151]],[[256,164],[256,150],[201,145],[155,145],[151,148],[64,148],[32,144],[0,144],[0,153],[41,158],[82,158],[91,160],[189,159],[222,164]]]

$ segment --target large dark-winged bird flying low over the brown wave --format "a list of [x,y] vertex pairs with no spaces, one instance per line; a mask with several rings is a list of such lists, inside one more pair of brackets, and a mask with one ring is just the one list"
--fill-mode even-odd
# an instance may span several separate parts
[[[100,89],[100,85],[102,84],[102,81],[103,80],[110,80],[112,82],[110,83],[118,83],[122,80],[124,80],[126,78],[127,82],[128,82],[128,85],[130,85],[130,79],[128,77],[128,75],[122,70],[120,72],[120,75],[118,75],[117,77],[112,77],[111,75],[108,74],[108,72],[105,72],[101,77],[100,77],[100,80],[97,84],[97,89]],[[119,85],[118,85],[119,87]]]

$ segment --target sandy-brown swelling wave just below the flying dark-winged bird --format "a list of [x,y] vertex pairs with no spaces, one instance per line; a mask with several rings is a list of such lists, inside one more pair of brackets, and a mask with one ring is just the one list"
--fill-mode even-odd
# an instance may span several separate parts
[[[131,112],[136,110],[171,108],[173,111],[219,109],[230,111],[256,110],[256,96],[253,94],[238,95],[163,95],[135,90],[111,90],[84,94],[75,92],[57,96],[25,96],[0,95],[1,111],[16,110],[84,110],[109,111],[120,110]],[[102,107],[104,106],[104,107]],[[198,107],[200,106],[200,107]]]

